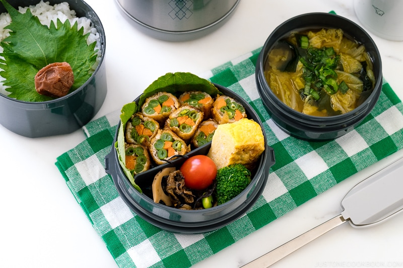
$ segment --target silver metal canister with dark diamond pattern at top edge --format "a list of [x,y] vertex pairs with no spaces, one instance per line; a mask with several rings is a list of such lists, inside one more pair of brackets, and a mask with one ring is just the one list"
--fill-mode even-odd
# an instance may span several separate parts
[[199,38],[222,26],[240,0],[116,0],[142,32],[162,40]]

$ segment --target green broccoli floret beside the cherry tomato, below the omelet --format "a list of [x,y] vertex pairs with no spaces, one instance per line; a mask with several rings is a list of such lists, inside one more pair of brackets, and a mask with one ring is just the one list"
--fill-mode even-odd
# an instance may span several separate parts
[[250,183],[251,173],[242,164],[232,164],[217,170],[216,198],[221,205],[239,195]]

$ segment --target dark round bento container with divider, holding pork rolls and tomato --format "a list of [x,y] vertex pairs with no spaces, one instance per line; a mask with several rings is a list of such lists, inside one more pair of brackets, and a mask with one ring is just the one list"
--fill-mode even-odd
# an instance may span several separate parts
[[[116,189],[127,206],[144,220],[164,230],[177,233],[202,233],[216,230],[240,218],[256,203],[266,185],[270,167],[275,163],[274,150],[267,145],[266,133],[256,112],[237,94],[223,86],[215,85],[224,95],[235,98],[245,107],[248,119],[254,120],[262,127],[265,140],[265,150],[259,157],[256,168],[252,172],[251,183],[231,201],[203,210],[180,210],[154,203],[150,197],[138,192],[123,173],[114,146],[118,130],[112,143],[111,152],[105,157],[105,170],[112,176]],[[135,102],[138,102],[139,98]],[[190,151],[186,155],[206,155],[210,147],[211,142]],[[140,187],[150,186],[159,170],[169,166],[179,167],[184,160],[185,158],[177,158],[172,161],[172,164],[166,163],[154,167],[136,175],[135,181]]]

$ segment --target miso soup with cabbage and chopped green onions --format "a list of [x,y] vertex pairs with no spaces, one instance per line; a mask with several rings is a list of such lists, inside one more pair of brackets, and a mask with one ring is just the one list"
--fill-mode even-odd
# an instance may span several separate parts
[[354,110],[375,84],[364,45],[341,29],[290,33],[268,52],[264,76],[284,104],[322,117]]

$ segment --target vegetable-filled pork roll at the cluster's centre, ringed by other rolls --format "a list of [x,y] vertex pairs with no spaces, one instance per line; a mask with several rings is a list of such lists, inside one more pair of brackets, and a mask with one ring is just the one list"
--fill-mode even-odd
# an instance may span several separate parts
[[187,141],[193,136],[201,121],[203,121],[203,112],[184,105],[169,115],[165,127],[169,127],[181,139]]

